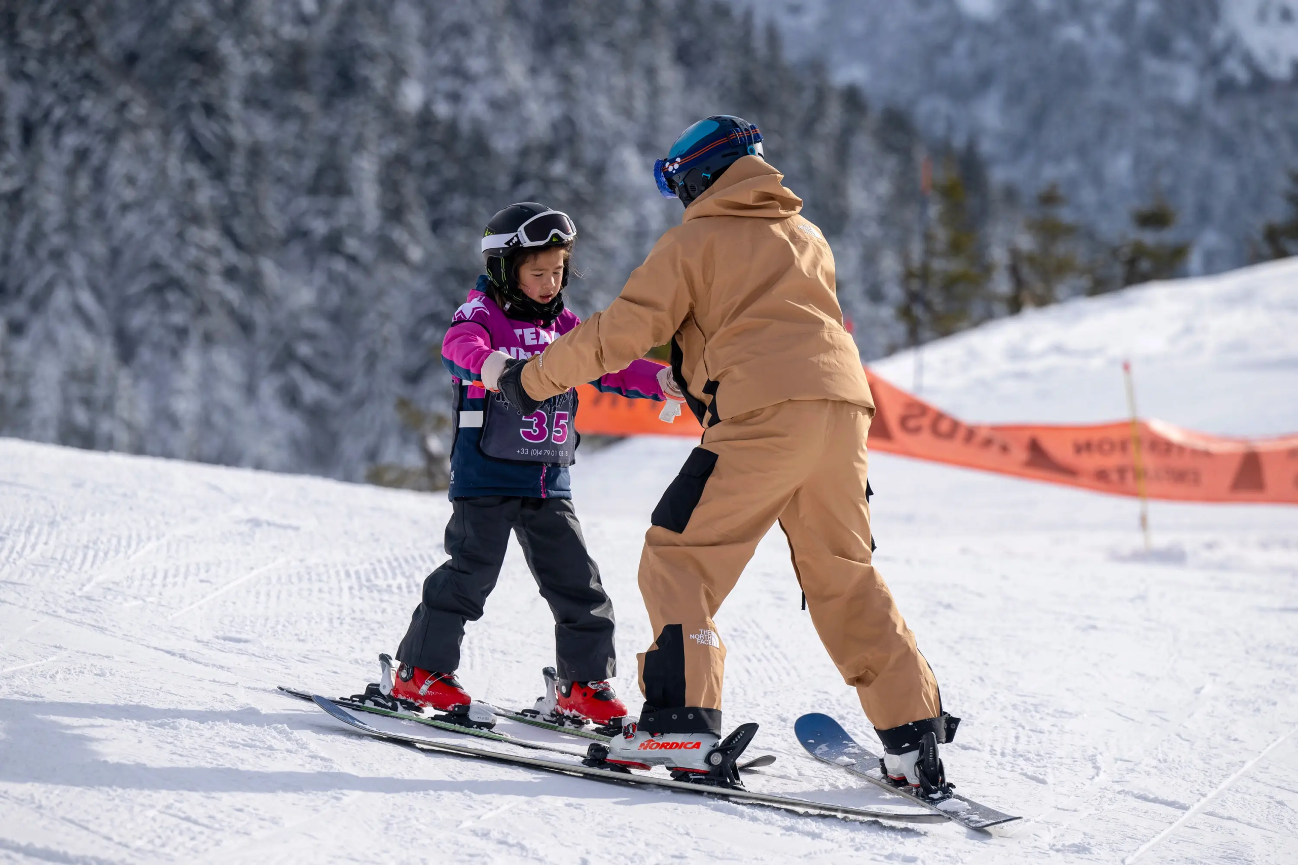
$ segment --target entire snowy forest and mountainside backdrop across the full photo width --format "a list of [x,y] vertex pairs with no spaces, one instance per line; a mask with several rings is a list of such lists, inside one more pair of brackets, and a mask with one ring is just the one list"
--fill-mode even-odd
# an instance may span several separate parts
[[[1282,217],[1282,163],[1298,153],[1282,40],[1250,31],[1253,53],[1225,39],[1203,54],[1225,5],[1175,22],[1141,13],[1124,31],[1123,3],[1090,17],[1070,4],[772,3],[755,18],[719,0],[9,4],[0,434],[349,480],[417,464],[419,436],[396,406],[448,403],[436,346],[479,271],[485,219],[518,200],[572,214],[585,279],[569,302],[601,309],[680,217],[653,160],[716,112],[762,127],[824,230],[866,359],[1133,281],[1093,265],[1133,248],[1128,211],[1150,184],[1180,213],[1175,243],[1151,246],[1167,274],[1242,263],[1246,237]],[[1077,62],[1058,54],[1076,74],[1047,75],[1045,35],[1070,16],[1108,53],[1083,29]],[[863,25],[853,52],[844,39]],[[942,34],[958,51],[935,47]],[[988,71],[1003,45],[1033,47],[1016,78]],[[1103,110],[1055,110],[1068,100],[1053,92],[1090,92],[1085,70],[1133,52],[1198,60],[1144,77],[1118,64]],[[924,56],[942,62],[911,62]],[[872,58],[871,75],[853,71]],[[1145,109],[1124,75],[1154,96],[1173,79],[1193,93],[1133,132],[1120,121]],[[970,95],[980,82],[983,101]],[[1195,93],[1215,100],[1211,147],[1180,134]],[[968,122],[955,123],[962,105]],[[1106,130],[1114,141],[1096,137]],[[1146,140],[1153,150],[1136,147]],[[1096,160],[1118,174],[1097,175]],[[1038,195],[1047,180],[1062,184],[1058,206]],[[1036,285],[1040,274],[1058,284]]]

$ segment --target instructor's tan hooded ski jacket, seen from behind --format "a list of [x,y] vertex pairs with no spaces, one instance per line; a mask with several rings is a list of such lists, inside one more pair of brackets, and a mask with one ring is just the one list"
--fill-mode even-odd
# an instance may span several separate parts
[[672,367],[706,427],[788,399],[874,411],[842,327],[833,254],[779,171],[745,156],[665,233],[622,294],[523,370],[536,399],[623,370],[672,341]]

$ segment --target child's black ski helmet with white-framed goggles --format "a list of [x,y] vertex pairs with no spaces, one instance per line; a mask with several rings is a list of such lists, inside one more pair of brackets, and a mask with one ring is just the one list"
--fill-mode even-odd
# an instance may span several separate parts
[[566,213],[550,210],[535,201],[511,204],[487,222],[483,232],[482,253],[491,280],[506,315],[515,319],[541,319],[546,323],[563,311],[563,292],[567,288],[571,265],[563,266],[561,290],[549,303],[537,303],[518,287],[515,267],[524,253],[552,246],[572,248],[576,226]]

